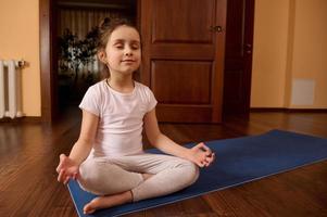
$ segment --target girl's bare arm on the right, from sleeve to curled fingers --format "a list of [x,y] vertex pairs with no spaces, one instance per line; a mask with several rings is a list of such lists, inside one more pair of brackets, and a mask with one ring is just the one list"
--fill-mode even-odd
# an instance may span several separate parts
[[214,153],[204,143],[187,149],[163,135],[158,126],[155,108],[144,115],[144,129],[150,143],[164,153],[189,159],[200,167],[214,161]]

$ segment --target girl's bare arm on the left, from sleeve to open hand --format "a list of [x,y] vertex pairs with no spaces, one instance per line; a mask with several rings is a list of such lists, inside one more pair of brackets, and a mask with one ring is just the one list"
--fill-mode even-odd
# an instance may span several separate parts
[[78,177],[79,165],[89,155],[98,129],[99,117],[83,110],[81,128],[78,140],[75,142],[70,156],[60,155],[56,167],[58,181],[67,183],[71,178]]

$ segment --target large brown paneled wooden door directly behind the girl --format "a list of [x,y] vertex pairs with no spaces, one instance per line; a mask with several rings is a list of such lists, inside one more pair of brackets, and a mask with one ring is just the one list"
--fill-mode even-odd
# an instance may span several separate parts
[[221,123],[226,0],[140,3],[141,80],[159,101],[159,120]]

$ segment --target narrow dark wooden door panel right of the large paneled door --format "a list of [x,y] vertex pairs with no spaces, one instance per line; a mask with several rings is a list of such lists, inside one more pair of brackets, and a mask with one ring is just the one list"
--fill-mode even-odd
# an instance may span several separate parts
[[249,116],[252,72],[254,0],[227,5],[224,73],[224,115]]

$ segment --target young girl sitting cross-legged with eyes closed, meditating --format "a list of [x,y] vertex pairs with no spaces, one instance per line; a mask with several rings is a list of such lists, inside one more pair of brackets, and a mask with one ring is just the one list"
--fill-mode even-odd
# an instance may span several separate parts
[[[59,181],[76,179],[99,195],[85,205],[85,214],[181,190],[198,179],[198,166],[210,166],[215,157],[203,143],[186,149],[161,133],[153,93],[133,79],[141,62],[138,30],[105,18],[99,33],[98,56],[110,76],[86,92],[79,138],[56,168]],[[168,155],[143,152],[143,126],[150,143]]]

